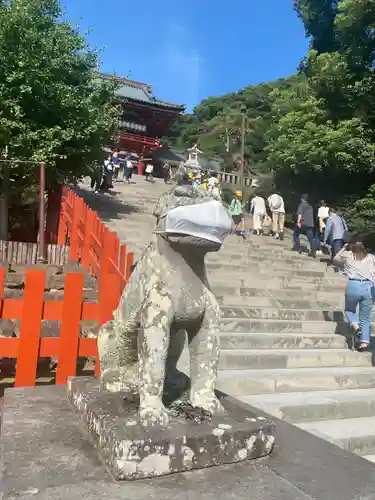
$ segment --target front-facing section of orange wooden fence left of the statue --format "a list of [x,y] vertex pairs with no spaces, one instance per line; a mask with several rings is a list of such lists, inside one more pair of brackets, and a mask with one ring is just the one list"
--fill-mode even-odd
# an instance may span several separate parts
[[[100,324],[112,317],[116,308],[120,280],[116,275],[107,278],[105,300],[84,302],[83,273],[67,273],[64,300],[44,300],[46,272],[27,271],[22,299],[3,299],[4,269],[0,268],[0,307],[2,319],[19,319],[20,336],[0,338],[1,357],[17,358],[15,385],[35,385],[38,358],[56,357],[56,383],[65,384],[69,376],[76,375],[79,356],[96,357],[99,374],[96,338],[80,338],[81,320],[98,320]],[[42,320],[61,321],[59,337],[40,337]]]

